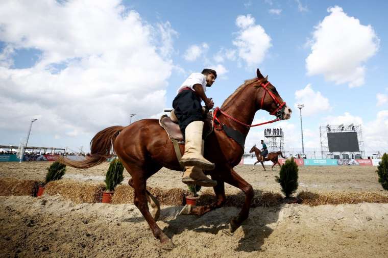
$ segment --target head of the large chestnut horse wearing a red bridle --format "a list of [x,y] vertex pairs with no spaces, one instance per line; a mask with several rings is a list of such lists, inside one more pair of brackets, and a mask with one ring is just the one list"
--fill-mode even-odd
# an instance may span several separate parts
[[254,83],[257,88],[256,104],[258,109],[268,111],[271,115],[285,120],[291,117],[293,112],[280,97],[275,86],[268,81],[268,75],[264,77],[257,69],[258,80]]

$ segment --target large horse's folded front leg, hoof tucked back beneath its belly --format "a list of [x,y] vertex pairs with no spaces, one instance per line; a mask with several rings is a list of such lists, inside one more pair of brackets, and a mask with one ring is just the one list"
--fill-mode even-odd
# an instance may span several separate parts
[[[211,179],[216,180],[213,176]],[[191,206],[186,205],[182,211],[180,212],[181,215],[197,215],[202,216],[205,213],[208,213],[212,210],[221,208],[226,200],[225,197],[225,184],[223,181],[217,180],[217,185],[213,187],[214,193],[216,196],[215,202],[211,203],[210,205],[205,206]]]

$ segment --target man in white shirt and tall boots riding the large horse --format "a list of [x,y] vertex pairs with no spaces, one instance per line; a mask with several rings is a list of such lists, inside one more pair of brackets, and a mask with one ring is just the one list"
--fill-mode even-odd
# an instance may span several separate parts
[[185,152],[181,158],[181,163],[186,167],[182,178],[185,184],[200,186],[217,184],[202,172],[202,169],[214,169],[214,164],[202,156],[204,111],[201,106],[203,100],[207,109],[214,107],[213,100],[206,96],[205,91],[206,87],[211,87],[216,78],[217,73],[212,69],[203,69],[202,73],[191,73],[179,87],[173,101],[174,112],[185,138]]

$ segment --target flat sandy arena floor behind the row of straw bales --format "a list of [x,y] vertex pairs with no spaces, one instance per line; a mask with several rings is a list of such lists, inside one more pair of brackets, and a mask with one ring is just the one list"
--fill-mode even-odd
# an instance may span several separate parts
[[[19,179],[44,179],[46,168],[50,162],[0,162],[0,177],[14,177]],[[104,182],[105,173],[109,163],[104,163],[89,169],[75,169],[67,167],[64,178],[76,180],[89,180]],[[271,166],[266,166],[267,171],[256,166],[252,171],[252,165],[239,165],[235,171],[239,173],[254,189],[263,191],[280,191],[279,184],[275,182],[275,175],[279,175],[279,167],[271,171]],[[374,166],[301,166],[299,167],[299,188],[313,192],[344,192],[344,191],[383,191],[378,183],[376,167]],[[127,184],[130,175],[124,171]],[[147,180],[147,185],[163,189],[184,188],[181,182],[182,172],[161,169]],[[227,192],[239,191],[235,187],[225,185]]]

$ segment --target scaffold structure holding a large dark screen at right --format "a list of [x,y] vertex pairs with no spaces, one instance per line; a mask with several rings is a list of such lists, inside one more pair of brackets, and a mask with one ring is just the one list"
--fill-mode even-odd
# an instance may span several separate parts
[[319,133],[323,159],[366,158],[360,124],[321,125]]

